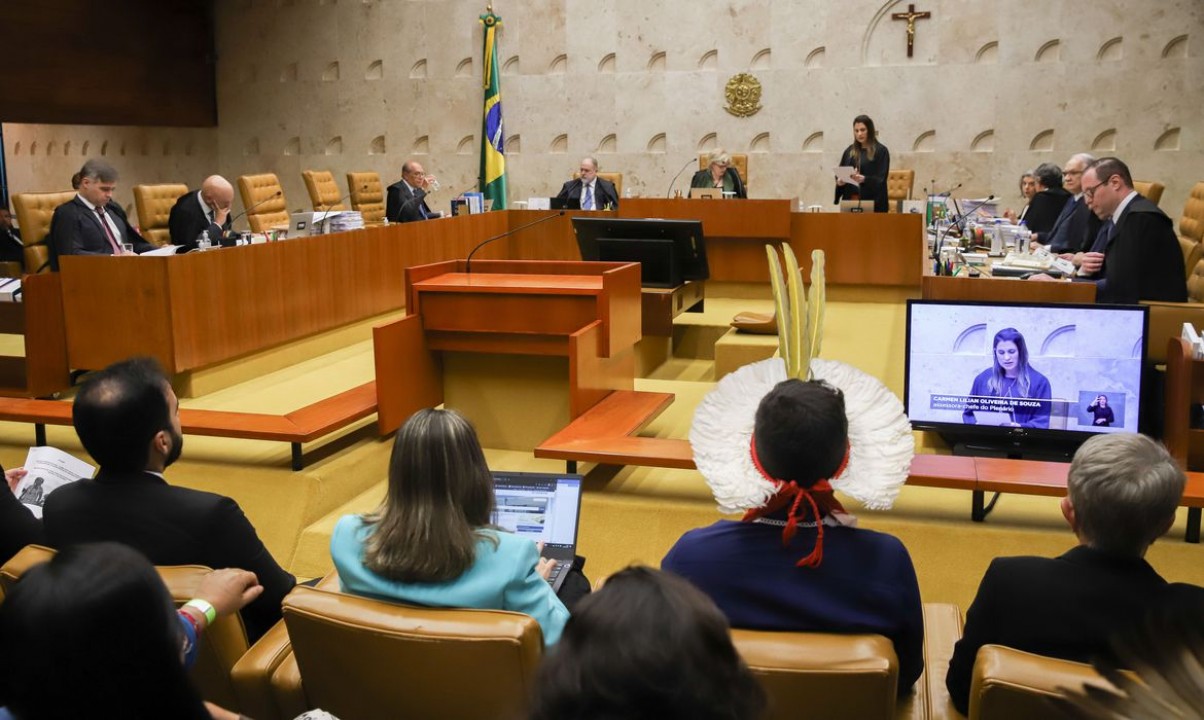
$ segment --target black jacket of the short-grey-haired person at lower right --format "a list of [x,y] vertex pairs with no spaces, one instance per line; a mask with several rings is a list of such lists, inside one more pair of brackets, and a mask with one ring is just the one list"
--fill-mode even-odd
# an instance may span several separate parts
[[967,712],[974,659],[986,644],[1090,661],[1109,636],[1140,619],[1167,582],[1140,557],[1080,545],[1061,557],[996,557],[966,612],[945,685]]

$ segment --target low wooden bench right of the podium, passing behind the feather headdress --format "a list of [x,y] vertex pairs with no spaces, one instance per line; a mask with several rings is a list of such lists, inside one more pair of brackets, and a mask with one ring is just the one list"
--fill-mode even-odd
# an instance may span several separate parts
[[[535,449],[535,456],[565,460],[568,472],[577,472],[578,461],[695,470],[689,441],[635,437],[635,433],[651,423],[672,401],[673,395],[668,393],[635,390],[612,393],[541,443]],[[1069,464],[1066,462],[916,455],[911,460],[911,472],[907,484],[969,490],[970,519],[981,523],[1003,492],[1062,497],[1066,495],[1069,468]],[[987,492],[995,492],[990,503],[986,502]],[[1187,486],[1179,506],[1187,508],[1187,530],[1184,539],[1198,543],[1200,514],[1204,508],[1204,473],[1187,473]]]

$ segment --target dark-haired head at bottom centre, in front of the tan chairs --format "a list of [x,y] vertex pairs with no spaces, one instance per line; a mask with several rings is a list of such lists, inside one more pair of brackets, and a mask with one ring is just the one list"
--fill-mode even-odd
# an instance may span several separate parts
[[765,692],[690,583],[628,567],[582,601],[536,681],[531,720],[755,720]]

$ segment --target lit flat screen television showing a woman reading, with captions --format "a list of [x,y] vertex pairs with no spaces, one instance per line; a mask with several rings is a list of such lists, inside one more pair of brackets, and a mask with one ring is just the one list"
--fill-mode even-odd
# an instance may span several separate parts
[[1149,308],[911,300],[903,405],[955,453],[1069,460],[1137,432]]

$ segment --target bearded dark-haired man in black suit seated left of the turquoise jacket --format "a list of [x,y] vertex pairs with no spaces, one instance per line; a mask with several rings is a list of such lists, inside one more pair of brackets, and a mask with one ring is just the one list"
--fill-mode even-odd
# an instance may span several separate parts
[[237,567],[255,573],[264,594],[242,610],[252,641],[281,619],[296,580],[272,559],[234,500],[170,485],[179,458],[179,403],[149,359],[111,365],[79,388],[76,435],[100,465],[94,479],[63,485],[46,498],[42,521],[55,548],[118,542],[154,565]]

